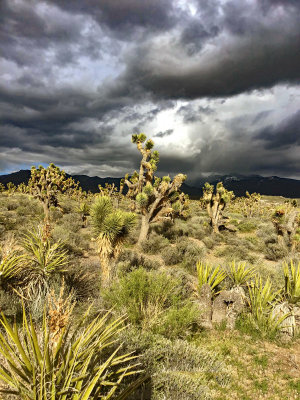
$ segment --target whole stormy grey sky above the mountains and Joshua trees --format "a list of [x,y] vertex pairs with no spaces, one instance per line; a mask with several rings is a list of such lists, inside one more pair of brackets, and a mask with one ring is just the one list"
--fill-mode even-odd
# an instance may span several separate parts
[[300,179],[300,0],[0,0],[0,173]]

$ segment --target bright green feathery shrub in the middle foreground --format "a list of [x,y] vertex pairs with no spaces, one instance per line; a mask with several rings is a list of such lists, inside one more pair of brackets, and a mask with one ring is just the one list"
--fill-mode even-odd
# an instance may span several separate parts
[[167,336],[179,332],[186,335],[198,315],[196,308],[183,298],[180,280],[161,271],[132,271],[105,291],[103,297],[119,314],[126,313],[131,323]]

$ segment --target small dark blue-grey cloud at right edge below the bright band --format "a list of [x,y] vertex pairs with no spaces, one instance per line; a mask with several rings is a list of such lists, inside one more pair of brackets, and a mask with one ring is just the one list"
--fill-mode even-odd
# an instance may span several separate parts
[[256,138],[264,141],[264,146],[269,149],[300,146],[300,111],[284,119],[278,125],[265,127],[257,134]]

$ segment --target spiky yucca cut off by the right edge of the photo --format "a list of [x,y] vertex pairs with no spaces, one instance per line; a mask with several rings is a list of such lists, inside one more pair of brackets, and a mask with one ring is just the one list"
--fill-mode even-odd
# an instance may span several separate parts
[[284,263],[284,294],[289,303],[296,304],[300,302],[300,262],[296,266],[293,261]]

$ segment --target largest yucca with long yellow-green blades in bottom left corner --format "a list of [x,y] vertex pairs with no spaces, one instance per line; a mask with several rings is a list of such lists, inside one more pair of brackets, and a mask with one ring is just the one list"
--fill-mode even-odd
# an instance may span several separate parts
[[122,381],[141,371],[136,356],[121,354],[117,337],[124,319],[110,322],[110,312],[86,325],[89,310],[80,323],[63,327],[53,335],[51,319],[44,312],[38,330],[23,307],[23,324],[10,324],[2,314],[0,392],[24,400],[126,399],[144,380],[141,377],[123,391]]

